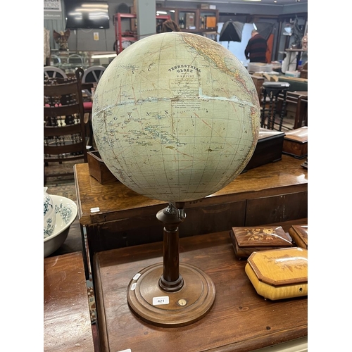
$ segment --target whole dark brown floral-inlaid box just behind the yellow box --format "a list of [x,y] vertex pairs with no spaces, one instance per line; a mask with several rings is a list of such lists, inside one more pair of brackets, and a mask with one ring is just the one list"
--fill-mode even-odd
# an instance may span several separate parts
[[281,226],[232,227],[230,230],[234,254],[237,258],[248,258],[254,251],[287,248],[292,239]]

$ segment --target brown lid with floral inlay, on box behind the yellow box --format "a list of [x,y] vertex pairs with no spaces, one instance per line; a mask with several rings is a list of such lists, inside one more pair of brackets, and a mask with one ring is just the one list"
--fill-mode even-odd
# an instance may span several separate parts
[[239,247],[288,247],[292,239],[281,226],[232,227]]

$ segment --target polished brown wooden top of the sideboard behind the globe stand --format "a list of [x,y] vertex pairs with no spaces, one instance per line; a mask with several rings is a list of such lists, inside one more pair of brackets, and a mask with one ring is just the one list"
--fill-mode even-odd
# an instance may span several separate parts
[[[301,167],[302,160],[292,156],[282,155],[282,160],[253,168],[239,175],[220,191],[199,201],[186,202],[184,208],[204,206],[253,199],[258,196],[276,195],[279,189],[284,191],[306,191],[308,189],[308,170]],[[149,199],[137,194],[124,184],[112,182],[100,184],[89,175],[88,163],[74,166],[77,192],[78,216],[81,225],[91,225],[97,222],[118,220],[130,215],[136,215],[136,210],[156,214],[165,208],[164,201]],[[99,207],[98,212],[92,208]]]

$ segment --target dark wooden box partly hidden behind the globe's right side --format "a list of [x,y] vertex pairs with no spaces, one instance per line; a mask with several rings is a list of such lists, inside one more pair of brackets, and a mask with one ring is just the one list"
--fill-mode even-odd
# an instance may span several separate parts
[[243,172],[281,160],[284,135],[284,132],[260,128],[256,150]]

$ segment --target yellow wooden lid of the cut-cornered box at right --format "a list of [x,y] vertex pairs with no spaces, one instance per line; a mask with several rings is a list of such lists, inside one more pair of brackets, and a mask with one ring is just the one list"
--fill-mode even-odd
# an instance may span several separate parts
[[308,251],[300,247],[253,252],[247,259],[260,282],[274,287],[308,282]]

